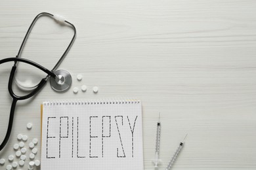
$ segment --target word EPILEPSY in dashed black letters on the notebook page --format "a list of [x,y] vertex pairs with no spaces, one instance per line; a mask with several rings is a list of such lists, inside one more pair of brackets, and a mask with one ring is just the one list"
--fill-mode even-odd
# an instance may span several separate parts
[[134,158],[138,119],[123,115],[47,117],[46,158]]

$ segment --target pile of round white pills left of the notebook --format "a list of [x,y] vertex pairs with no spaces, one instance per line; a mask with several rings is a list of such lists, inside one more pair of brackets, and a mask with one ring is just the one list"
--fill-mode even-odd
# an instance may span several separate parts
[[[32,123],[28,123],[27,129],[31,130],[32,126]],[[8,164],[6,165],[7,170],[17,169],[17,167],[33,170],[36,167],[40,167],[40,161],[35,158],[37,155],[37,148],[35,146],[38,143],[38,139],[34,138],[30,143],[27,143],[29,137],[19,133],[17,135],[17,141],[18,143],[13,145],[14,154],[9,155],[7,158],[9,162],[7,163],[4,158],[0,158],[0,169],[5,166],[5,163]],[[28,163],[27,167],[25,165],[26,162]]]

